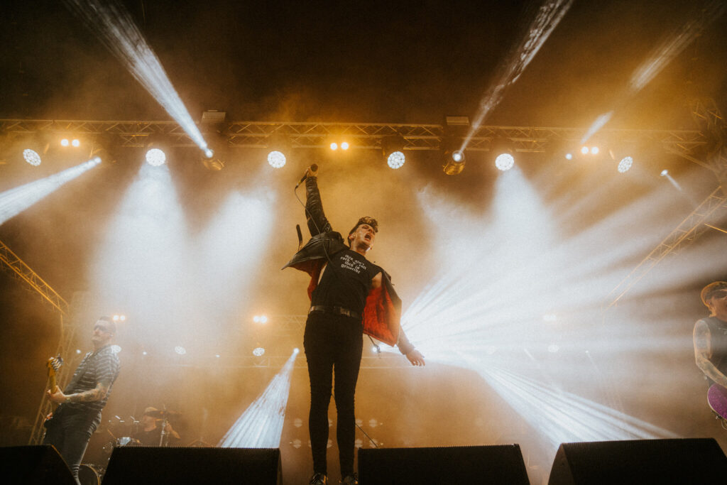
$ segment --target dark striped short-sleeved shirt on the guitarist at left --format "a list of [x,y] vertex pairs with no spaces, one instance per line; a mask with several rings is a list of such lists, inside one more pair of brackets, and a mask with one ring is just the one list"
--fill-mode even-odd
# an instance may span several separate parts
[[73,372],[71,382],[65,387],[63,393],[75,394],[95,389],[99,382],[108,382],[108,392],[100,401],[65,403],[65,412],[79,414],[100,414],[111,396],[111,387],[116,377],[119,377],[119,356],[111,350],[111,345],[89,352],[84,356],[81,364]]

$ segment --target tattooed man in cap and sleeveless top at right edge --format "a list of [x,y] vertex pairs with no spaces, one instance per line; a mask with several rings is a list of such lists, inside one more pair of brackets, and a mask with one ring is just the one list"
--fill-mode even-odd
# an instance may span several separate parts
[[702,303],[710,316],[694,324],[694,356],[707,380],[727,389],[727,281],[702,289]]

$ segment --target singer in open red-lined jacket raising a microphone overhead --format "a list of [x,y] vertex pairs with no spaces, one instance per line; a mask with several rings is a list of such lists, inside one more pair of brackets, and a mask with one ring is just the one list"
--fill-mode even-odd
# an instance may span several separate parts
[[310,275],[310,310],[303,337],[310,378],[308,431],[313,476],[309,484],[329,483],[326,445],[334,369],[340,483],[358,484],[353,468],[356,431],[353,403],[361,367],[362,333],[397,345],[414,366],[423,366],[425,361],[401,330],[401,300],[394,292],[389,275],[366,259],[366,253],[374,246],[377,221],[361,217],[348,232],[346,246],[324,214],[318,192],[318,167],[315,164],[308,167],[303,178],[305,215],[313,237],[284,268],[296,268]]

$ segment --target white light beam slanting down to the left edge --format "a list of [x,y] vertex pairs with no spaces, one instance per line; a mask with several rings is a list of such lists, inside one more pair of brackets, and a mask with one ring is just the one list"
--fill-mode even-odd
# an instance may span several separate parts
[[101,159],[95,158],[44,179],[0,193],[0,224],[28,209],[61,185],[96,167],[100,162]]

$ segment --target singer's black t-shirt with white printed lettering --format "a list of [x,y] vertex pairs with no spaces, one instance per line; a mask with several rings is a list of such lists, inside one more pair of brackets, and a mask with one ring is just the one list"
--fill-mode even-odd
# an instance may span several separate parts
[[333,254],[331,261],[313,290],[311,305],[339,306],[361,315],[371,280],[381,268],[351,249]]

